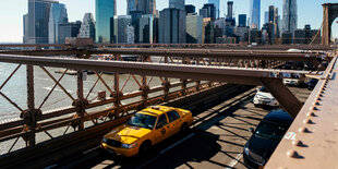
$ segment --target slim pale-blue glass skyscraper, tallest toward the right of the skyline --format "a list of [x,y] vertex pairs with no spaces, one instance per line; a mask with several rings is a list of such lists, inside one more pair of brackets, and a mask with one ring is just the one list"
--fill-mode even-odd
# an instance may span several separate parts
[[261,0],[251,0],[250,3],[251,28],[261,28]]

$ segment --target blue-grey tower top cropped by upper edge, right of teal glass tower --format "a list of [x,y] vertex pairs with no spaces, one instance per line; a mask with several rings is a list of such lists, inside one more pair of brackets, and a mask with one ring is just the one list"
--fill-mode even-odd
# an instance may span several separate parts
[[156,15],[156,0],[128,0],[126,14],[132,15],[132,11],[138,11],[142,14]]

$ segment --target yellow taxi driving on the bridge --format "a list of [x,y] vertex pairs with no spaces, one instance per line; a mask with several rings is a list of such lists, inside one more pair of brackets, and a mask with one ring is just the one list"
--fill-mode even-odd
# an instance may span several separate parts
[[108,153],[132,157],[178,132],[185,132],[192,122],[189,110],[167,106],[148,107],[106,134],[100,147]]

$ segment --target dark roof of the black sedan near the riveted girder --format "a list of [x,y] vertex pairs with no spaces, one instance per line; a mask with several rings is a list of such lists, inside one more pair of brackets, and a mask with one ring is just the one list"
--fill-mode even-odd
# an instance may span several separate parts
[[267,116],[264,117],[263,120],[267,122],[279,122],[290,124],[293,121],[291,116],[282,109],[271,110]]

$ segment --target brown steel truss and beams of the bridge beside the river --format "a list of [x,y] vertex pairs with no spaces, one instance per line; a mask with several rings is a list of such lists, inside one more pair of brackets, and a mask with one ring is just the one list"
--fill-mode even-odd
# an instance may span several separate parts
[[[33,46],[32,46],[33,47]],[[38,47],[39,48],[39,47]],[[0,124],[0,142],[14,141],[9,148],[13,149],[16,142],[22,137],[27,146],[36,145],[36,133],[46,133],[51,141],[55,140],[48,131],[65,126],[63,135],[69,128],[77,131],[85,131],[85,122],[92,121],[94,125],[105,129],[113,126],[116,123],[107,125],[106,121],[112,119],[117,123],[122,123],[131,110],[140,110],[146,106],[168,101],[169,99],[185,96],[188,94],[201,92],[215,86],[228,84],[243,85],[265,85],[277,100],[292,116],[297,117],[303,104],[300,102],[291,92],[282,84],[283,73],[301,73],[321,75],[317,52],[286,52],[283,50],[220,50],[220,49],[123,49],[123,48],[89,48],[89,49],[65,49],[65,50],[11,50],[0,51],[0,62],[17,63],[15,70],[0,86],[0,95],[11,105],[21,111],[22,120]],[[112,55],[114,61],[88,60],[90,56]],[[122,55],[138,56],[136,62],[122,61]],[[56,57],[41,56],[74,56],[74,59],[64,59]],[[159,63],[152,61],[152,56],[160,57]],[[331,58],[330,58],[331,60]],[[310,61],[317,65],[317,72],[309,71],[289,71],[275,69],[286,61]],[[5,96],[1,88],[15,74],[15,72],[26,64],[27,75],[27,109],[24,110]],[[41,69],[53,82],[55,85],[48,93],[40,106],[36,107],[34,96],[34,67]],[[67,69],[57,80],[45,67]],[[85,96],[83,89],[83,70],[93,70],[97,81],[92,86],[89,93]],[[77,70],[77,92],[73,97],[60,83],[69,70]],[[113,87],[110,88],[107,80],[102,79],[101,72],[114,72]],[[120,73],[128,73],[129,79],[120,86]],[[140,75],[141,80],[135,77]],[[152,76],[150,79],[148,76]],[[149,87],[154,76],[161,81],[160,86]],[[170,79],[180,79],[179,82],[170,82]],[[125,84],[134,80],[140,89],[125,94],[123,88]],[[208,82],[203,82],[208,81]],[[110,93],[109,97],[101,100],[88,101],[88,96],[98,82],[101,82]],[[190,84],[190,85],[189,85]],[[72,100],[72,106],[60,108],[52,111],[41,111],[41,107],[50,97],[56,87],[60,87]],[[172,88],[180,87],[179,90]],[[162,92],[162,95],[149,97],[149,94]],[[122,100],[141,97],[138,101],[123,105]],[[88,112],[90,108],[113,104],[104,110]],[[75,112],[75,113],[74,113]],[[98,129],[97,128],[97,129]],[[83,136],[83,135],[82,135]],[[56,143],[57,144],[57,143]]]

